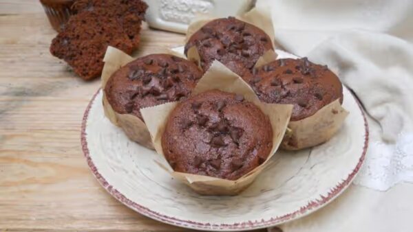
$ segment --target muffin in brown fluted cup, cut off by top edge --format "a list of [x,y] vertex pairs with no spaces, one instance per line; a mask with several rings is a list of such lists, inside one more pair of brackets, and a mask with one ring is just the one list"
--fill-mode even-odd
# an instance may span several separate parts
[[74,0],[40,0],[49,19],[50,25],[56,32],[60,32],[65,23],[72,16],[71,7]]

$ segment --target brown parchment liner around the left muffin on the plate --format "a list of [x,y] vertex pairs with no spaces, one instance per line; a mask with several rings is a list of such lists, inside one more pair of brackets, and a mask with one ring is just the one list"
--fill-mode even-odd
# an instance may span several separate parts
[[[162,51],[160,53],[182,57],[182,54],[178,54],[177,52],[171,51],[170,49],[165,49],[165,51]],[[127,65],[127,63],[135,59],[136,58],[133,58],[128,54],[125,54],[123,51],[120,51],[115,47],[107,47],[105,58],[103,58],[105,66],[103,67],[101,78],[102,89],[105,89],[107,80],[109,80],[109,78],[115,71],[117,71],[118,69],[120,69],[120,67]],[[135,115],[120,114],[114,111],[112,106],[107,101],[105,91],[103,91],[103,109],[105,110],[106,117],[113,124],[122,128],[127,137],[129,137],[129,139],[131,139],[132,141],[136,141],[137,143],[140,143],[142,146],[145,146],[146,148],[152,150],[154,149],[151,141],[151,135],[149,135],[149,131],[145,123]]]

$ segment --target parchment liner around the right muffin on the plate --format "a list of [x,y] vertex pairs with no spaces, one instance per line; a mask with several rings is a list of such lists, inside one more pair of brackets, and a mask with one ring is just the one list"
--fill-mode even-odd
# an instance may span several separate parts
[[[276,57],[264,54],[255,67],[260,67],[276,60]],[[339,100],[319,109],[314,115],[298,121],[290,121],[281,144],[285,150],[310,148],[331,139],[341,128],[348,115]]]

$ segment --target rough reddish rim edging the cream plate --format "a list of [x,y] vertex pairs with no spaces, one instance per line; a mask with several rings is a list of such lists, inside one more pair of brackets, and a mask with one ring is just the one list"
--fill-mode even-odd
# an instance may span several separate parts
[[262,219],[262,220],[255,220],[255,221],[244,221],[244,222],[237,222],[234,224],[210,224],[210,223],[201,223],[201,222],[193,222],[189,220],[182,220],[180,218],[174,218],[171,216],[166,216],[162,213],[158,213],[156,211],[152,211],[151,209],[148,209],[147,207],[143,207],[142,205],[139,205],[137,202],[133,202],[132,200],[129,200],[123,194],[118,192],[118,190],[115,189],[112,185],[107,183],[106,179],[99,173],[98,169],[96,168],[92,159],[89,156],[89,148],[87,147],[86,132],[85,132],[89,110],[92,107],[92,104],[96,98],[96,95],[98,95],[99,91],[100,89],[94,94],[94,96],[92,97],[92,100],[89,102],[86,108],[85,114],[83,115],[82,131],[81,131],[82,150],[87,159],[87,164],[92,170],[92,173],[94,174],[94,176],[96,177],[100,185],[102,185],[107,190],[107,192],[109,192],[109,194],[114,196],[114,198],[122,202],[127,207],[134,209],[134,211],[137,211],[138,213],[141,213],[144,216],[147,216],[154,220],[158,220],[160,222],[171,224],[177,227],[186,227],[186,228],[198,229],[198,230],[203,229],[203,230],[210,230],[210,231],[214,231],[214,230],[242,231],[242,230],[248,230],[248,229],[260,229],[260,228],[265,228],[265,227],[272,227],[282,222],[286,222],[288,220],[293,220],[293,219],[301,218],[302,216],[306,216],[308,213],[311,212],[311,210],[319,209],[327,205],[328,202],[334,200],[337,196],[339,196],[341,192],[343,192],[344,189],[346,189],[346,187],[350,185],[350,183],[356,176],[357,172],[359,172],[359,169],[364,161],[367,148],[368,148],[369,132],[368,132],[368,124],[367,124],[366,115],[363,111],[363,108],[361,107],[361,104],[357,100],[357,98],[354,97],[354,95],[352,95],[354,97],[354,100],[356,100],[357,104],[359,105],[361,115],[363,115],[363,119],[364,119],[364,127],[365,127],[366,134],[364,137],[365,139],[364,139],[363,152],[360,156],[359,163],[357,163],[356,167],[354,167],[354,170],[352,170],[352,172],[348,175],[346,180],[343,180],[340,183],[337,183],[336,187],[334,187],[329,192],[328,196],[320,196],[319,199],[309,202],[308,205],[304,207],[300,207],[300,209],[297,209],[296,211],[287,213],[284,216],[273,217],[273,218],[270,218],[269,220]]

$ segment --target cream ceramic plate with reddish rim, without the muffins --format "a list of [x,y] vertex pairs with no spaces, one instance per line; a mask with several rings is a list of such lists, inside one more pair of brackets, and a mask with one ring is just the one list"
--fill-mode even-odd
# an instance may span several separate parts
[[160,156],[129,141],[105,118],[102,91],[85,111],[82,147],[99,183],[138,213],[178,227],[243,231],[274,226],[311,213],[339,196],[363,163],[368,126],[361,107],[343,89],[350,111],[330,141],[299,152],[278,152],[238,196],[200,196],[154,161]]

